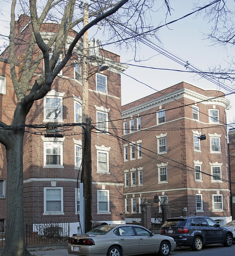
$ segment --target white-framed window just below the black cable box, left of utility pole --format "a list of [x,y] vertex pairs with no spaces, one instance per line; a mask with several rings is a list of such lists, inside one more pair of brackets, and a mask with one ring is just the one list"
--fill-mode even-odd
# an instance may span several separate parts
[[63,166],[63,142],[44,142],[44,166],[52,168]]

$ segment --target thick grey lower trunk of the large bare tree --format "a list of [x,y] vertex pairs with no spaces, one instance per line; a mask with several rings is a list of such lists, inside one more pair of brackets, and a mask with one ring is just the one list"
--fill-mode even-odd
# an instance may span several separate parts
[[12,143],[7,153],[7,225],[1,256],[29,256],[23,222],[23,134],[10,132]]

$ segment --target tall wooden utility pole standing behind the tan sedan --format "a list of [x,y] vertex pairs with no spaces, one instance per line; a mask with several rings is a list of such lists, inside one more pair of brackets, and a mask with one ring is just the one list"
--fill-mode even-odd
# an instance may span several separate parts
[[[88,24],[88,4],[84,3],[83,26]],[[83,83],[82,83],[82,123],[86,123],[82,135],[82,154],[84,159],[83,193],[85,233],[91,230],[92,224],[92,180],[91,180],[91,118],[88,118],[88,30],[83,35]]]

